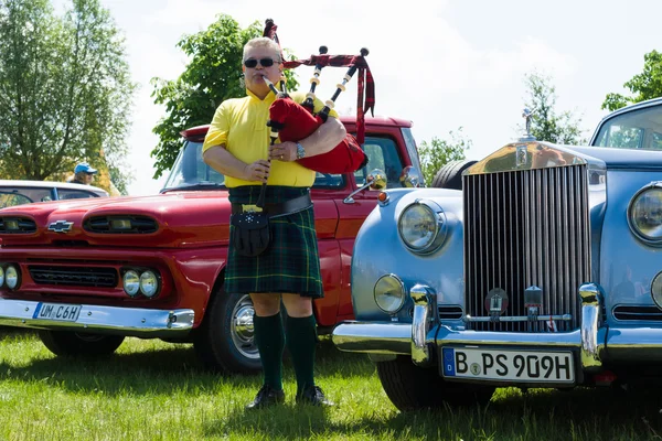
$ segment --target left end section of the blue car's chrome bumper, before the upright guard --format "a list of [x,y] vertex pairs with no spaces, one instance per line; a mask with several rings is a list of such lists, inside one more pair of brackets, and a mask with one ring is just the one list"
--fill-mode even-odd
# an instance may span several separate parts
[[335,347],[367,354],[412,354],[412,324],[343,322],[331,335]]

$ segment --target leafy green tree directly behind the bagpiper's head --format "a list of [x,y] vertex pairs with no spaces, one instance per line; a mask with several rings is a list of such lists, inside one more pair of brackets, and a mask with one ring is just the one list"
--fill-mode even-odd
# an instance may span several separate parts
[[[151,152],[156,158],[154,179],[174,163],[182,130],[210,123],[221,103],[246,95],[244,45],[260,35],[258,22],[241,29],[232,17],[220,14],[206,30],[184,35],[177,44],[190,58],[184,72],[174,80],[152,78],[154,103],[164,105],[167,111],[152,130],[159,136],[159,144]],[[293,74],[286,71],[286,77],[288,88],[295,89],[298,84]]]

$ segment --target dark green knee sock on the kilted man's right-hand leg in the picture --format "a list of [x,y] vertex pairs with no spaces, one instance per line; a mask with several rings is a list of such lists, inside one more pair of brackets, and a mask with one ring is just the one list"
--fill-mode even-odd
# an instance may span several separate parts
[[317,327],[314,315],[307,318],[287,316],[287,348],[289,349],[298,390],[314,385],[314,348],[317,345]]

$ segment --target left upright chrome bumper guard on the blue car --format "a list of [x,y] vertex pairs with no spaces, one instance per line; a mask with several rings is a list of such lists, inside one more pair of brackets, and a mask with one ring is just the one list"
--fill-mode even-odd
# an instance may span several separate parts
[[[414,300],[412,361],[419,366],[427,365],[433,359],[427,334],[439,322],[435,314],[436,308],[434,308],[436,306],[437,295],[435,295],[431,288],[423,284],[415,284],[409,290],[409,295]],[[434,340],[430,343],[434,343]]]

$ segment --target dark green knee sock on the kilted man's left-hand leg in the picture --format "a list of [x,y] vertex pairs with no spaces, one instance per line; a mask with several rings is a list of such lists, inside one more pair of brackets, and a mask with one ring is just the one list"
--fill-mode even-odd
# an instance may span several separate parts
[[280,313],[269,316],[253,318],[255,344],[265,375],[265,385],[274,389],[282,389],[282,351],[285,349],[285,332]]

